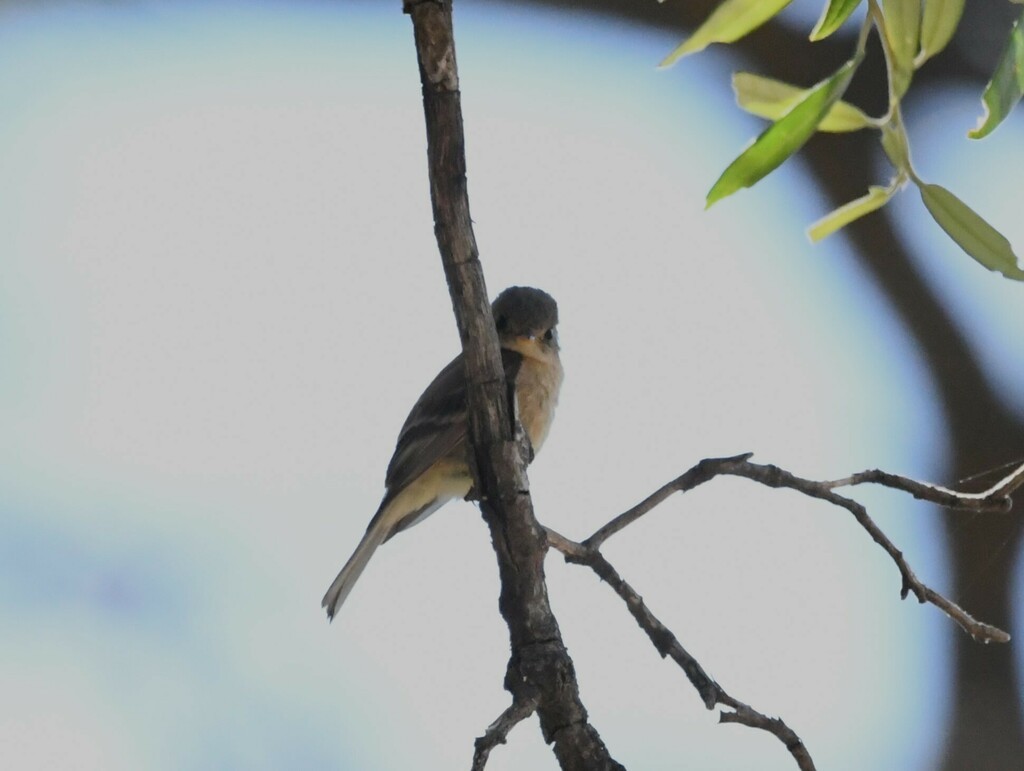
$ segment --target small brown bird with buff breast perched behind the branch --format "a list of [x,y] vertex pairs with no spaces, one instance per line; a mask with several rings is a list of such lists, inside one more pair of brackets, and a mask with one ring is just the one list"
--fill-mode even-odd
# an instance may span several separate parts
[[[543,290],[509,287],[492,303],[490,312],[512,406],[529,439],[532,460],[547,439],[563,378],[558,305]],[[381,544],[449,501],[469,495],[473,474],[466,412],[465,358],[460,353],[423,391],[398,432],[384,475],[384,498],[321,603],[329,620]]]

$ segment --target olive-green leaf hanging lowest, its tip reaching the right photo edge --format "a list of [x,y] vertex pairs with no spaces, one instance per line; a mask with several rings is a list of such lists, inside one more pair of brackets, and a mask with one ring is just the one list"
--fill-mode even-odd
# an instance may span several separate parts
[[945,187],[919,182],[929,213],[961,249],[989,270],[1024,281],[1024,270],[1006,238]]

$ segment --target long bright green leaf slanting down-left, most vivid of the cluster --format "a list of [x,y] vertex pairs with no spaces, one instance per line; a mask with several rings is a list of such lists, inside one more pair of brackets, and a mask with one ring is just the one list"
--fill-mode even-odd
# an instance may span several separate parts
[[740,187],[750,187],[800,149],[814,133],[829,108],[850,85],[850,80],[859,63],[859,57],[847,61],[830,78],[811,88],[807,95],[780,120],[765,129],[722,172],[722,176],[708,192],[707,206],[710,207],[716,201],[731,196]]

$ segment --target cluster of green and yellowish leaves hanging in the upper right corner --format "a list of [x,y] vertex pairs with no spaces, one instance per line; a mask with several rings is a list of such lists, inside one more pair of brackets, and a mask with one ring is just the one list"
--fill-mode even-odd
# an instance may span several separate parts
[[[1024,0],[1012,0],[1024,2]],[[791,0],[724,0],[663,61],[669,67],[713,43],[731,43],[777,15]],[[864,0],[828,0],[810,32],[811,41],[822,40],[847,23]],[[853,55],[830,76],[804,88],[778,80],[736,73],[732,87],[742,110],[766,118],[771,124],[722,172],[707,204],[712,206],[738,189],[750,187],[778,168],[817,131],[872,130],[894,174],[887,185],[871,185],[867,192],[833,212],[808,229],[817,242],[854,220],[885,206],[912,183],[938,225],[971,257],[1008,279],[1024,281],[1024,263],[1010,242],[956,196],[924,181],[910,161],[910,142],[901,114],[901,100],[914,73],[942,51],[959,25],[966,0],[867,0]],[[886,59],[889,106],[874,118],[843,101],[843,94],[865,56],[868,36],[878,34]],[[1010,39],[992,79],[982,94],[984,114],[968,135],[980,139],[1004,121],[1024,93],[1024,11],[1010,31]]]

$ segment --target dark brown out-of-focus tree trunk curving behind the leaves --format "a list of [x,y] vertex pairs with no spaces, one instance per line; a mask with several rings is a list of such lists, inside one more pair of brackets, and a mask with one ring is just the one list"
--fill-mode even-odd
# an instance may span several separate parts
[[[718,4],[718,0],[665,4],[654,0],[530,2],[649,25],[680,38]],[[908,99],[913,98],[914,89],[965,79],[973,79],[980,96],[1015,12],[1014,6],[1005,2],[968,3],[954,44],[915,76]],[[828,40],[811,45],[807,31],[773,24],[734,46],[757,72],[794,83],[811,83],[849,56],[851,42]],[[874,55],[861,68],[847,97],[881,114],[886,105],[881,55]],[[877,152],[873,132],[857,132],[812,140],[804,157],[818,186],[833,206],[839,206],[878,181],[872,173]],[[939,393],[950,447],[946,481],[953,483],[1019,459],[1024,448],[1024,422],[993,390],[979,366],[977,351],[916,271],[890,212],[884,209],[846,232],[927,362]],[[953,577],[950,597],[976,616],[1012,634],[1011,584],[1020,551],[1022,508],[1024,505],[1018,503],[1009,516],[978,517],[966,528],[962,526],[963,514],[947,515],[945,520]],[[1024,716],[1012,648],[979,645],[953,625],[947,634],[955,639],[955,659],[943,767],[949,771],[1019,768],[1024,758]]]

